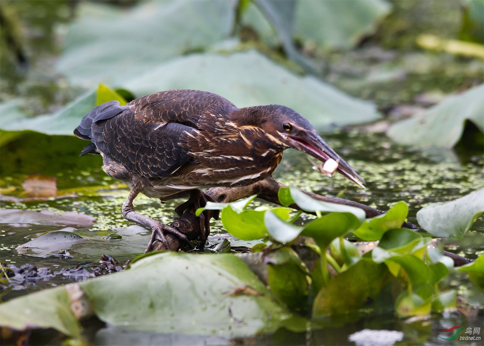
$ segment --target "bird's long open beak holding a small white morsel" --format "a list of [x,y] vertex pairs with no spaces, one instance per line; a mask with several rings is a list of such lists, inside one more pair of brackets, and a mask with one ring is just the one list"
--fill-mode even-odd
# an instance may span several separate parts
[[364,188],[364,180],[358,173],[352,169],[345,160],[343,160],[338,154],[334,152],[331,147],[323,141],[323,139],[316,132],[304,132],[301,131],[298,136],[286,137],[287,142],[294,149],[302,151],[303,153],[309,154],[312,157],[316,157],[321,162],[326,162],[327,159],[332,158],[333,160],[339,160],[339,166],[337,171],[349,180],[351,180],[356,185]]

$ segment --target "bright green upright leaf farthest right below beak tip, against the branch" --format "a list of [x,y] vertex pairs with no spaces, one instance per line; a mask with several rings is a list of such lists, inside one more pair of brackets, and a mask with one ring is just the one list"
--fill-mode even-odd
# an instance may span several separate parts
[[408,205],[405,202],[398,202],[385,214],[365,220],[357,230],[353,231],[353,234],[366,241],[380,240],[386,231],[400,228],[407,219],[407,215]]

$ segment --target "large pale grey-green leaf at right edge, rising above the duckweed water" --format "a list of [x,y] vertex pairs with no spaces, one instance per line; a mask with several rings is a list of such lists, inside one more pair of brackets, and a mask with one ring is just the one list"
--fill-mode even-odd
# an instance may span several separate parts
[[484,84],[449,96],[434,107],[391,126],[387,135],[395,142],[419,147],[452,148],[467,119],[484,131]]

